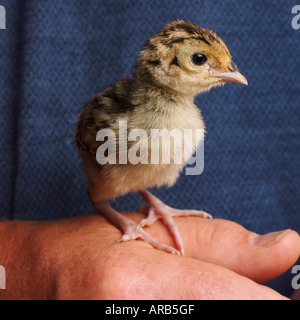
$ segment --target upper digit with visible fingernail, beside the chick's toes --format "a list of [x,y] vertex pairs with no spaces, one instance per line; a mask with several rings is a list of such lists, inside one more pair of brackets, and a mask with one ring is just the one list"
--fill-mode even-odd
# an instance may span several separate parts
[[[218,264],[260,283],[287,271],[299,257],[300,238],[292,230],[259,237],[227,220],[176,218],[176,224],[186,256]],[[174,246],[160,222],[147,231]]]

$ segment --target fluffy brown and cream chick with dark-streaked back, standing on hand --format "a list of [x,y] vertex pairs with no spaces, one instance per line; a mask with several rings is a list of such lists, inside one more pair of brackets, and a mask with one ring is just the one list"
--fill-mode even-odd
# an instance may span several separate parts
[[[84,106],[78,120],[76,144],[88,177],[89,198],[96,210],[123,233],[120,241],[142,238],[154,248],[183,254],[183,241],[173,217],[210,218],[202,211],[171,208],[147,188],[175,183],[185,162],[204,139],[205,124],[194,97],[226,82],[247,85],[224,41],[210,30],[178,20],[167,24],[145,43],[133,79],[122,79],[107,87]],[[128,151],[134,148],[136,141],[124,141],[120,135],[121,123],[126,124],[126,132],[138,128],[146,133],[139,137],[138,143],[140,151],[147,151],[144,161],[135,164],[128,161]],[[122,147],[106,145],[107,140],[97,136],[102,129],[109,129],[106,132],[111,133],[118,147]],[[174,146],[171,150],[159,148],[159,162],[151,163],[153,129],[167,129],[168,132],[176,129],[180,133],[192,130],[193,136],[184,148],[182,163],[174,161],[182,151]],[[196,135],[196,130],[201,134]],[[183,142],[187,144],[185,140]],[[107,147],[105,155],[110,153],[109,156],[117,161],[99,161],[99,147]],[[166,152],[170,156],[169,164],[162,162]],[[148,216],[139,225],[110,205],[111,199],[129,192],[140,192],[146,201],[142,210]],[[162,219],[169,229],[177,248],[158,242],[144,231],[143,226],[151,225],[157,219]]]

